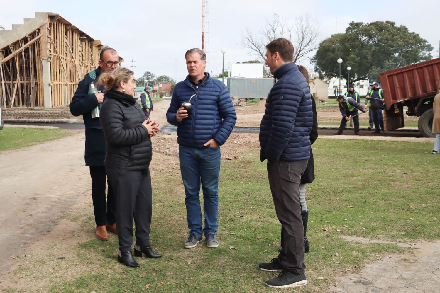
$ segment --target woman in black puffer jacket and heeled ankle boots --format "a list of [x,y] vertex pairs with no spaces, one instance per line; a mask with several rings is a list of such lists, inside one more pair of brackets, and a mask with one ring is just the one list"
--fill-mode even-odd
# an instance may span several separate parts
[[150,137],[158,125],[145,120],[137,99],[133,72],[117,68],[99,76],[105,88],[106,102],[100,122],[107,141],[104,164],[116,198],[116,227],[119,239],[117,260],[129,267],[139,267],[132,255],[133,216],[136,223],[135,256],[162,255],[150,247],[152,148]]

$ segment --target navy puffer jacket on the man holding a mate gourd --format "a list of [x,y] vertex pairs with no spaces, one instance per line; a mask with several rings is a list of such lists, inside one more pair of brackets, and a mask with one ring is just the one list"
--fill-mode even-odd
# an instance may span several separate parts
[[188,77],[176,84],[171,104],[166,113],[168,123],[177,126],[179,145],[205,148],[210,139],[223,145],[237,121],[234,105],[226,86],[206,73],[206,80],[198,87],[197,96],[191,99],[192,113],[177,122],[176,113],[183,102],[189,101],[195,90]]

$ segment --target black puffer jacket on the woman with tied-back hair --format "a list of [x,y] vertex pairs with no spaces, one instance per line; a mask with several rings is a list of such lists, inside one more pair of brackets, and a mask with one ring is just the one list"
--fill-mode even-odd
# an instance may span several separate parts
[[137,99],[116,90],[109,90],[106,97],[99,117],[107,141],[106,168],[147,169],[153,152]]

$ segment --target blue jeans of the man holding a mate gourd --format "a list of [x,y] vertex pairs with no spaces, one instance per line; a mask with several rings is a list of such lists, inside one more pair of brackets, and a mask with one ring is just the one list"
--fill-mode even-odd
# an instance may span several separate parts
[[[188,228],[191,233],[202,237],[217,232],[219,206],[220,147],[191,148],[179,146],[180,173],[185,186]],[[200,207],[200,183],[203,191],[203,213],[205,228],[202,230]]]

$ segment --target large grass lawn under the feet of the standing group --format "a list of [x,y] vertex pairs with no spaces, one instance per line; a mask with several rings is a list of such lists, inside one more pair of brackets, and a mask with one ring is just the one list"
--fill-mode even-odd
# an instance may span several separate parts
[[[336,276],[410,250],[348,242],[340,235],[394,242],[440,239],[440,157],[431,149],[423,142],[318,139],[313,145],[316,179],[306,195],[309,284],[284,291],[325,292]],[[188,237],[183,185],[180,176],[164,172],[152,178],[150,234],[152,247],[164,257],[137,258],[140,268],[125,267],[116,260],[117,237],[109,235],[107,242],[91,239],[73,247],[73,257],[63,260],[51,251],[20,258],[15,274],[25,276],[20,282],[44,283],[40,292],[275,292],[264,282],[277,274],[257,268],[277,255],[281,227],[266,163],[260,163],[258,153],[253,148],[242,159],[222,161],[217,249],[205,242],[183,248]],[[91,205],[64,217],[92,235]]]

